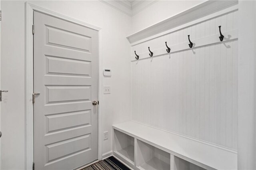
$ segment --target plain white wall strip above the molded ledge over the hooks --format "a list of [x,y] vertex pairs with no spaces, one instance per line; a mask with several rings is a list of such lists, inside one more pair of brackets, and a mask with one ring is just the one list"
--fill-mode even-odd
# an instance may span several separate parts
[[160,0],[132,16],[132,33],[188,10],[205,0]]

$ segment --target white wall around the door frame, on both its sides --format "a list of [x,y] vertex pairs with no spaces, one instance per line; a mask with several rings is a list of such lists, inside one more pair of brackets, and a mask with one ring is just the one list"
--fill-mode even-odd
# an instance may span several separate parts
[[[25,2],[2,1],[1,86],[9,92],[1,102],[1,170],[25,168]],[[111,86],[111,94],[103,95],[100,101],[102,130],[109,132],[102,152],[111,151],[112,125],[130,120],[130,47],[126,36],[131,18],[100,1],[30,3],[102,28],[103,67],[112,69],[112,77],[103,79],[103,85]]]

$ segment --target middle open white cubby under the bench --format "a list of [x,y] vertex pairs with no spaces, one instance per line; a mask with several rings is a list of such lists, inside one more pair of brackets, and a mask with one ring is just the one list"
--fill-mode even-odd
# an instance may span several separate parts
[[170,170],[170,154],[137,140],[137,167],[142,170]]

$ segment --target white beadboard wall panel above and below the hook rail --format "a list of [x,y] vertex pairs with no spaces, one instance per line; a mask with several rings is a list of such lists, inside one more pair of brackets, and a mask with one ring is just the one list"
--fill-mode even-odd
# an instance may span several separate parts
[[[238,11],[133,45],[131,55],[237,30]],[[224,35],[225,36],[225,35]],[[228,38],[228,37],[225,37]],[[196,45],[196,44],[195,44]],[[172,49],[171,49],[172,50]],[[132,120],[237,149],[238,39],[131,62]]]

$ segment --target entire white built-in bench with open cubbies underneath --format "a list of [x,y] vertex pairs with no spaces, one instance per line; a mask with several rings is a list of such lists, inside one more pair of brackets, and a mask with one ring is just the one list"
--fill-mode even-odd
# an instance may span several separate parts
[[237,169],[237,151],[128,121],[113,125],[113,154],[132,169]]

